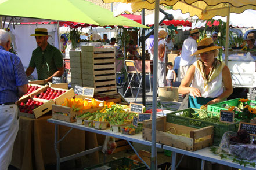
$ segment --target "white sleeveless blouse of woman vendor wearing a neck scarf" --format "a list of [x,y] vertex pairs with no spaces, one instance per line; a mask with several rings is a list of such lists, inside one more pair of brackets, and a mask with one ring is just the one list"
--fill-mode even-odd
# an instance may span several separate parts
[[[195,65],[195,64],[194,64]],[[224,83],[222,78],[222,72],[215,77],[211,82],[208,83],[208,91],[204,91],[204,79],[200,71],[196,68],[194,71],[194,79],[192,80],[191,86],[198,88],[201,92],[202,97],[215,98],[221,95],[224,91]],[[190,94],[193,96],[193,94]]]

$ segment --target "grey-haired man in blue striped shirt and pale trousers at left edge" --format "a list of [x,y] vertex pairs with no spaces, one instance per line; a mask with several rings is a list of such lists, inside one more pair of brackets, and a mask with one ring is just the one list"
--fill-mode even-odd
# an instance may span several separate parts
[[0,29],[0,169],[12,159],[13,144],[19,130],[19,108],[15,104],[27,93],[27,77],[18,56],[9,52],[10,34]]

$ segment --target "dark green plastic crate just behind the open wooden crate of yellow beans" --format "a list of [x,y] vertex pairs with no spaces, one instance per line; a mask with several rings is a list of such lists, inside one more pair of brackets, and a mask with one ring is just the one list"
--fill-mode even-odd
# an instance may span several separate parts
[[233,124],[218,124],[218,123],[212,123],[210,121],[176,115],[176,113],[183,114],[183,112],[188,112],[189,116],[192,116],[191,113],[196,113],[199,110],[200,109],[188,108],[188,109],[178,110],[172,113],[167,113],[167,122],[175,123],[179,125],[185,125],[193,128],[203,128],[203,127],[207,127],[208,125],[212,125],[214,126],[214,143],[213,143],[214,145],[219,145],[219,143],[221,142],[222,136],[226,131],[237,132],[239,127],[239,121],[240,121],[237,118],[235,118],[236,122]]

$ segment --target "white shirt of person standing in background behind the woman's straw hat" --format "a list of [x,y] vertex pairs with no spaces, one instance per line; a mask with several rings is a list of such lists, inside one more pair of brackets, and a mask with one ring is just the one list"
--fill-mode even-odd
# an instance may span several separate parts
[[183,42],[181,51],[181,62],[180,66],[187,66],[193,64],[196,61],[196,56],[191,56],[197,51],[197,43],[191,36]]

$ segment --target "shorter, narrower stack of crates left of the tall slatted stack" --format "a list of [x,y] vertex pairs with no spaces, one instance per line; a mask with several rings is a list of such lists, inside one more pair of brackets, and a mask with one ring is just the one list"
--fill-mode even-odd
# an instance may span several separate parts
[[82,86],[81,51],[70,51],[71,87]]

